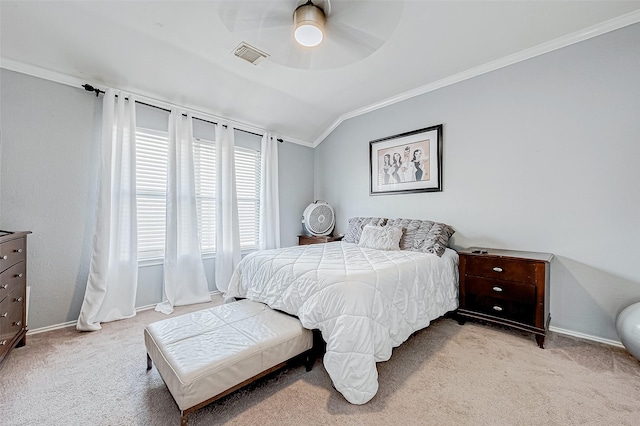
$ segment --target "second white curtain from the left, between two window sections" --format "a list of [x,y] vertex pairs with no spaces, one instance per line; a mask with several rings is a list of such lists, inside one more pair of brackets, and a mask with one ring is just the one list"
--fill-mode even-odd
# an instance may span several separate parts
[[211,301],[198,238],[193,161],[193,120],[176,109],[169,116],[167,233],[164,250],[164,301],[156,311]]

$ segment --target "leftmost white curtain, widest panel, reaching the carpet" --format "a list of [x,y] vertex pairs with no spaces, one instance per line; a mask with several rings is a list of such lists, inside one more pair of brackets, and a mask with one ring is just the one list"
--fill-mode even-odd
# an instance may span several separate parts
[[[127,100],[128,98],[128,100]],[[133,96],[107,89],[93,254],[76,328],[135,316],[138,286],[136,116]]]

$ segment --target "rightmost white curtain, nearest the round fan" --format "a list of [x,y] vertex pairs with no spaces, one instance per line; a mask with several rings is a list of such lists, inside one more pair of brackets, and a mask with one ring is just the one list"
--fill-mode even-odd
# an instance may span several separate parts
[[262,136],[260,147],[260,250],[280,248],[280,196],[278,193],[278,141]]

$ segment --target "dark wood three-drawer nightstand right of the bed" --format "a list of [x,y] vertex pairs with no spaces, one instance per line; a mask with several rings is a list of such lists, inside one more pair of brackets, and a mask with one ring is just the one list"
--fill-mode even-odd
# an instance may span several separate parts
[[544,348],[553,255],[475,247],[458,254],[460,322],[475,318],[528,331]]

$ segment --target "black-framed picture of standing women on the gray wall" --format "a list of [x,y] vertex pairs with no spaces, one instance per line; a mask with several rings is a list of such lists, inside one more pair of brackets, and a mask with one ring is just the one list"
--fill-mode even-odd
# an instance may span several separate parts
[[442,191],[442,124],[369,142],[369,195]]

